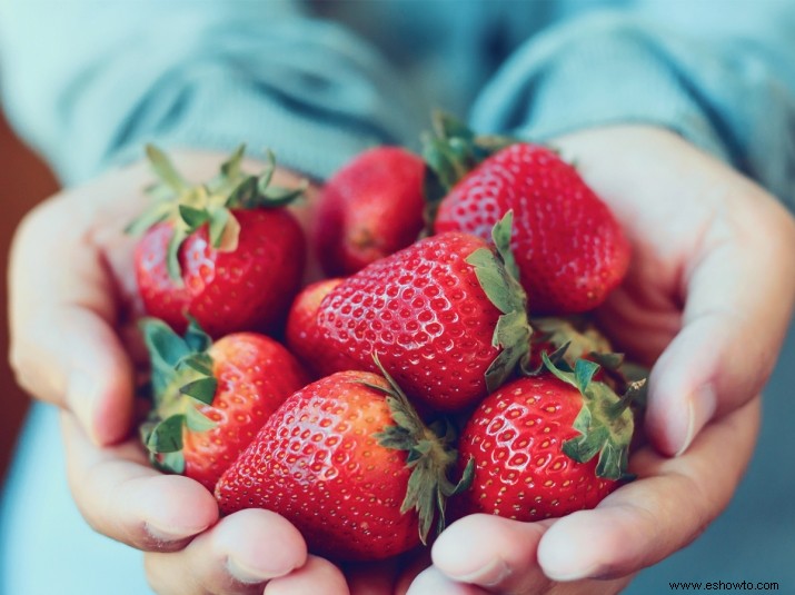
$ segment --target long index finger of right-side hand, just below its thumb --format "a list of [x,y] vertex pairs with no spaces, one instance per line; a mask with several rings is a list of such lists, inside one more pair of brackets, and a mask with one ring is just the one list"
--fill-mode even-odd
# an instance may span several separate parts
[[709,424],[680,457],[638,452],[630,462],[637,480],[593,510],[558,519],[544,534],[538,545],[544,573],[556,581],[622,577],[689,544],[727,506],[739,483],[759,409],[755,399]]

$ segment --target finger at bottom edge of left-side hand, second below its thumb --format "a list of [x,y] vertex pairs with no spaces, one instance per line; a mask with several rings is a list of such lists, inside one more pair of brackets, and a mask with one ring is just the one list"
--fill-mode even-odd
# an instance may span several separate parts
[[179,552],[145,557],[149,583],[163,595],[262,593],[268,581],[306,562],[298,529],[276,513],[256,508],[221,519]]

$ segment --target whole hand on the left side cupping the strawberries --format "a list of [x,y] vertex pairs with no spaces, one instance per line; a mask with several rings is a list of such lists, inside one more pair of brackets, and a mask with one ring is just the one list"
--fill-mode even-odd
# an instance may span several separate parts
[[[175,157],[189,179],[207,179],[221,160],[211,153]],[[310,592],[345,593],[328,591],[340,585],[341,574],[307,557],[287,520],[266,510],[219,520],[209,492],[156,472],[138,443],[133,387],[146,357],[135,327],[135,238],[122,230],[143,208],[141,190],[151,181],[143,163],[115,170],[47,200],[24,219],[10,265],[18,381],[63,409],[79,509],[97,532],[149,553],[147,573],[158,593],[261,592],[267,579],[296,568],[296,581],[318,587]],[[297,180],[280,172],[276,181]]]

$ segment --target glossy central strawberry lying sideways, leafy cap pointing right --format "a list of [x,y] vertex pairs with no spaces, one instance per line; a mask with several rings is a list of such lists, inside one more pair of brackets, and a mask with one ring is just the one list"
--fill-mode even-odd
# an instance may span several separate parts
[[509,229],[508,215],[495,226],[496,248],[469,234],[426,238],[348,277],[320,303],[318,351],[368,370],[375,353],[425,405],[474,405],[527,361]]

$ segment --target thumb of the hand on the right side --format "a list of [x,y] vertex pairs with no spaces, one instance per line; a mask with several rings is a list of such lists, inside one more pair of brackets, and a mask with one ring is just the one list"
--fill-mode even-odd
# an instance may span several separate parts
[[747,195],[716,212],[684,275],[683,328],[649,378],[647,430],[668,455],[762,389],[792,316],[795,224],[772,198]]

